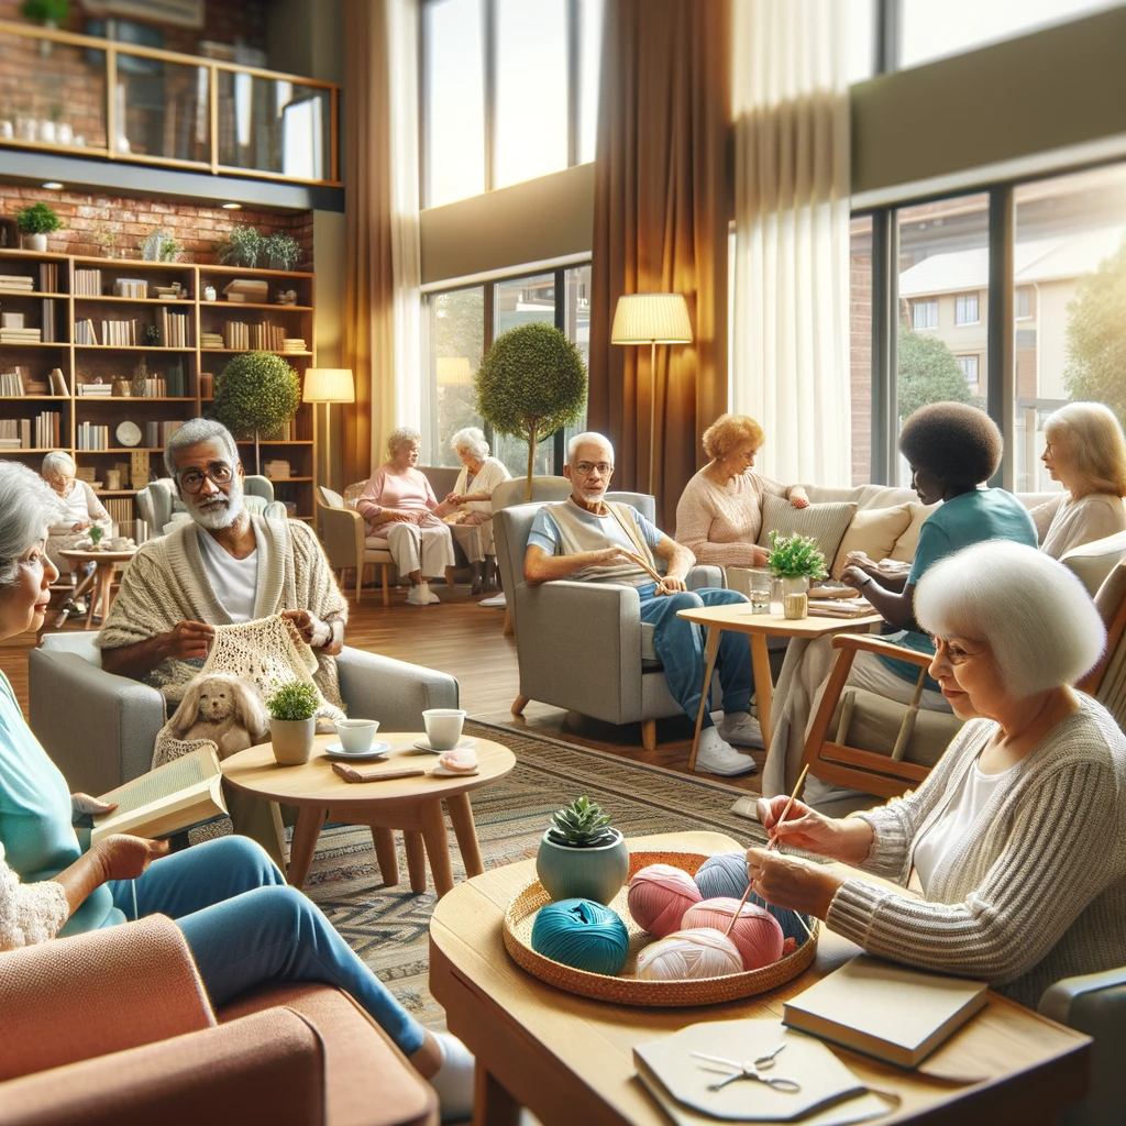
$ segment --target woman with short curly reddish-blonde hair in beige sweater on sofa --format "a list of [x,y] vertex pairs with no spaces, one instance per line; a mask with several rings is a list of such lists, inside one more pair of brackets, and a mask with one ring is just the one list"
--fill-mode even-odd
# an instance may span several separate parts
[[808,506],[801,485],[783,485],[753,472],[763,440],[762,427],[749,414],[721,414],[704,431],[704,453],[711,461],[685,485],[674,537],[698,563],[766,566],[766,548],[756,543],[762,494],[785,497],[794,508]]

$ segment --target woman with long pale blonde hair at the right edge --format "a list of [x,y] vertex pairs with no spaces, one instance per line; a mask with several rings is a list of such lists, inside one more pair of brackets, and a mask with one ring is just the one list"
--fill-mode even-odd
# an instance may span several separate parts
[[1126,439],[1114,411],[1102,403],[1069,403],[1044,423],[1040,455],[1060,500],[1034,509],[1037,524],[1052,513],[1040,551],[1053,558],[1082,544],[1126,531]]

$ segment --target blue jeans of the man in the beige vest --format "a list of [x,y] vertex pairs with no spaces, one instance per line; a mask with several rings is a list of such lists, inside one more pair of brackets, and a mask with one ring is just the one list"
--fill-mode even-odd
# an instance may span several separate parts
[[[641,597],[641,619],[654,626],[653,646],[664,667],[664,679],[672,698],[696,718],[704,683],[704,629],[695,622],[677,617],[678,610],[700,606],[730,606],[747,599],[734,590],[704,587],[700,590],[679,591],[656,596],[656,583],[637,588]],[[723,688],[723,711],[750,712],[751,709],[751,647],[742,634],[726,631],[720,640],[716,660],[720,685]],[[704,726],[712,726],[711,706],[704,712]]]

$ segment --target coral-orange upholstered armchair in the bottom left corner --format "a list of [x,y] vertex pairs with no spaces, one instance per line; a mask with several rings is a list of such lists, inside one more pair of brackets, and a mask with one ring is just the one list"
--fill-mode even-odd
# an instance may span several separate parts
[[0,954],[0,992],[3,1126],[438,1120],[434,1091],[339,990],[277,986],[216,1015],[162,915]]

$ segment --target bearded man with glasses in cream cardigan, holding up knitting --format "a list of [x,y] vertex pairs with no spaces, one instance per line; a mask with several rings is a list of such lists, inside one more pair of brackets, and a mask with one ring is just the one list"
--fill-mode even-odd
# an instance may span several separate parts
[[164,465],[191,522],[134,556],[98,635],[101,667],[178,703],[214,626],[282,614],[312,646],[324,698],[340,706],[333,658],[343,647],[348,602],[313,530],[247,511],[238,447],[218,422],[186,422],[169,439]]

